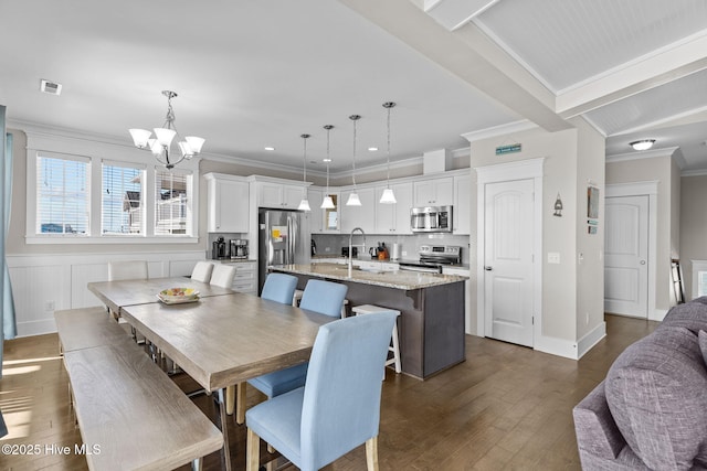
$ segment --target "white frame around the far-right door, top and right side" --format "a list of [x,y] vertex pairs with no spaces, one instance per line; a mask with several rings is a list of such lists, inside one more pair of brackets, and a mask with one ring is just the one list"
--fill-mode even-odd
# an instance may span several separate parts
[[[647,319],[650,321],[662,321],[664,314],[659,314],[655,310],[655,296],[656,296],[656,260],[657,260],[657,244],[656,238],[658,234],[657,226],[657,195],[658,195],[658,181],[643,181],[632,183],[612,183],[606,184],[605,197],[615,196],[648,196],[648,307]],[[603,256],[603,250],[602,250]],[[602,257],[603,258],[603,257]]]

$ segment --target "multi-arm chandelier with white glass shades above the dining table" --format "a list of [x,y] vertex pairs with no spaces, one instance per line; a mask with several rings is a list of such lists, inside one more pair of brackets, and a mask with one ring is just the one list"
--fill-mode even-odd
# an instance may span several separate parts
[[[172,98],[176,98],[177,94],[170,90],[162,90],[162,95],[167,97],[167,116],[162,127],[154,129],[155,138],[151,138],[152,132],[146,129],[129,129],[129,131],[135,147],[151,150],[158,162],[168,169],[173,169],[182,160],[189,160],[199,154],[205,140],[196,136],[187,136],[184,140],[181,140],[181,136],[179,136],[175,127],[175,110],[172,109]],[[175,136],[177,136],[177,144],[181,150],[181,157],[177,160],[173,157],[170,159],[171,143]]]

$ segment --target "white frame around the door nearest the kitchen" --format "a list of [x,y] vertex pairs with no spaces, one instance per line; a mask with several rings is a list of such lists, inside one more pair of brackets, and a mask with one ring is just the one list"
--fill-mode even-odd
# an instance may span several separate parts
[[502,183],[513,180],[532,180],[534,201],[532,211],[536,220],[534,224],[534,302],[532,302],[532,343],[542,334],[542,169],[545,158],[519,160],[516,162],[498,163],[495,165],[477,167],[476,171],[476,332],[486,336],[486,290],[484,276],[484,254],[486,247],[486,184]]

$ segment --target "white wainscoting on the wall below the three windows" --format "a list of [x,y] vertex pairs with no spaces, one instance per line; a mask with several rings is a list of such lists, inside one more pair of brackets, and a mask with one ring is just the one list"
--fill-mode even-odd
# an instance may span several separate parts
[[54,311],[101,306],[86,285],[108,279],[112,260],[147,260],[150,278],[190,275],[203,250],[179,253],[8,255],[18,336],[56,332]]

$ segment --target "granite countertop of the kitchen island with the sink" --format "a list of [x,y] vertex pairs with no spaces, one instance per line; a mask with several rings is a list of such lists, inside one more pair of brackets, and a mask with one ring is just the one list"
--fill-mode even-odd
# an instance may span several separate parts
[[468,278],[456,275],[437,275],[419,271],[378,270],[354,268],[349,277],[348,266],[344,264],[313,263],[303,265],[276,265],[271,267],[273,271],[307,275],[312,277],[328,278],[341,281],[360,282],[394,289],[420,289],[432,286],[449,285],[465,281]]

